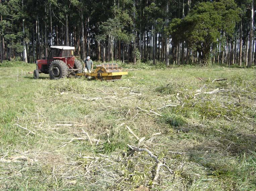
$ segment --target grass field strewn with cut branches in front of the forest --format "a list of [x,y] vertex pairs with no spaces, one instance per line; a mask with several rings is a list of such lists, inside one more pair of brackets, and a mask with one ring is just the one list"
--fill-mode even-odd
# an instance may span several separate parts
[[[100,82],[34,68],[0,68],[0,190],[256,190],[255,69],[136,67]],[[127,144],[173,174],[154,181],[155,160]]]

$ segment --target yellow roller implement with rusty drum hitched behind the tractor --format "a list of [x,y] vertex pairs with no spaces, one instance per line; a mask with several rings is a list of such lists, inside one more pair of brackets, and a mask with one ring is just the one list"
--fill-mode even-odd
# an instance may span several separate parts
[[96,69],[92,73],[77,73],[76,75],[85,75],[86,77],[94,77],[97,80],[116,81],[120,80],[122,75],[127,75],[128,72],[122,71],[118,64],[100,64],[96,65]]

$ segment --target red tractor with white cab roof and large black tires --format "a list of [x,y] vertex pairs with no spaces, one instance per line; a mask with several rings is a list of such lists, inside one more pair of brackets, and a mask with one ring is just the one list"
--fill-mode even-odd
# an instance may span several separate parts
[[73,55],[74,47],[51,46],[50,48],[50,55],[46,59],[37,60],[34,79],[39,78],[39,73],[49,74],[51,79],[60,79],[83,72],[81,62]]

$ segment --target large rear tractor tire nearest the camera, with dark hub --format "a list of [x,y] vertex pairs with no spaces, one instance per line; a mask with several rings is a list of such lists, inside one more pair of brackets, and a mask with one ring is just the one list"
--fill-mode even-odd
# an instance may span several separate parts
[[67,73],[67,65],[62,60],[53,60],[49,66],[49,75],[51,79],[67,77]]

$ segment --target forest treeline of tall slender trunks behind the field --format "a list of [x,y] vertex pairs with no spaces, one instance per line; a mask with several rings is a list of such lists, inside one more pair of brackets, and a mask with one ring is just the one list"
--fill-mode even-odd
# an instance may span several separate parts
[[256,65],[255,0],[0,0],[0,56]]

